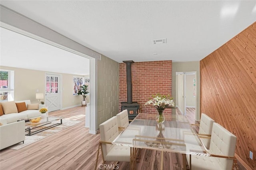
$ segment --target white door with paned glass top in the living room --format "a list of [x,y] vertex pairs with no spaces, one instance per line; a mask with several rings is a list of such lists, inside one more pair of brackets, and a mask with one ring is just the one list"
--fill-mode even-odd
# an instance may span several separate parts
[[48,106],[48,111],[60,109],[60,75],[46,74],[46,92],[45,104]]

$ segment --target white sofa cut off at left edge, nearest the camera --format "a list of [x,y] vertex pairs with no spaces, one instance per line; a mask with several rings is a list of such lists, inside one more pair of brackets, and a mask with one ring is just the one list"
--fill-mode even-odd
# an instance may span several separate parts
[[0,149],[10,147],[25,140],[25,121],[7,123],[6,119],[0,118]]

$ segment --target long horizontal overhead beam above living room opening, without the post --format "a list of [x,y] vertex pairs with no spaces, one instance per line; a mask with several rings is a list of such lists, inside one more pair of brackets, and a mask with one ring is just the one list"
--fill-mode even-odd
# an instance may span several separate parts
[[83,57],[101,60],[100,53],[2,5],[0,5],[0,21],[1,27],[11,31],[54,45],[71,53],[82,55]]

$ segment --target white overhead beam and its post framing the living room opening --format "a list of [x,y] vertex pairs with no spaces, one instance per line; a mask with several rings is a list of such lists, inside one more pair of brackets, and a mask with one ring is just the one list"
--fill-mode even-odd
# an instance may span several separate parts
[[[60,49],[90,59],[90,131],[97,133],[97,60],[101,60],[97,53],[68,37],[0,5],[0,26],[11,31],[26,35],[38,41],[53,45]],[[88,113],[87,113],[88,114]]]

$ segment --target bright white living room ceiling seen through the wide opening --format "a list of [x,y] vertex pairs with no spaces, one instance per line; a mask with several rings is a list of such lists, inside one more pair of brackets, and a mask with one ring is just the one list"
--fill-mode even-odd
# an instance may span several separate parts
[[89,75],[89,59],[0,27],[1,66]]

